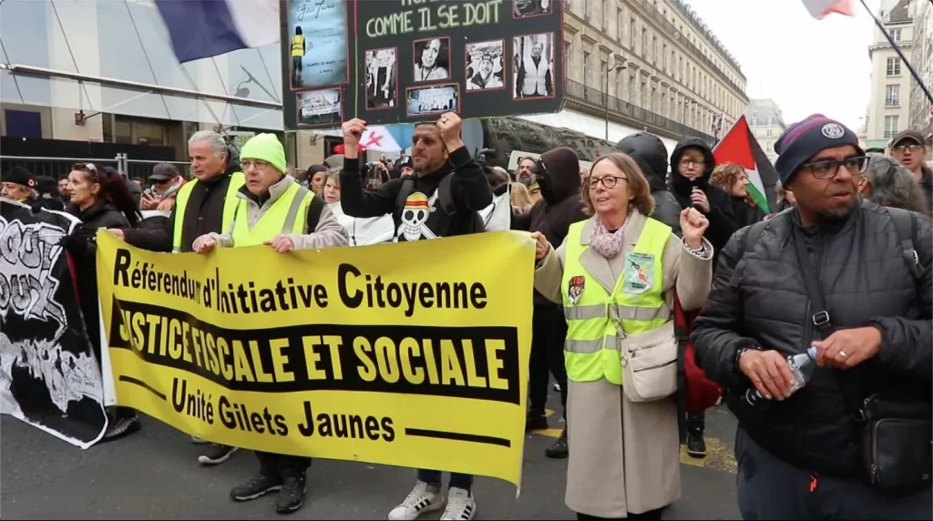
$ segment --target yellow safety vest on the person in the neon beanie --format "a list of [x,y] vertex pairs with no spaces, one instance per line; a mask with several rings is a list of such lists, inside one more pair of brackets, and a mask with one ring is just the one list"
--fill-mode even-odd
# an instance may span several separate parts
[[279,199],[275,199],[272,208],[259,217],[253,229],[249,229],[246,199],[240,199],[237,205],[236,219],[233,221],[233,247],[256,246],[271,240],[280,233],[304,233],[308,224],[308,207],[314,199],[314,192],[298,183],[292,183]]

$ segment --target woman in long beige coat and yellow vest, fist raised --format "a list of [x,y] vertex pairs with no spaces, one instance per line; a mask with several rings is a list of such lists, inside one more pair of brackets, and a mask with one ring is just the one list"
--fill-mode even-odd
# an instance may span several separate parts
[[555,251],[540,233],[535,287],[564,305],[567,336],[565,502],[578,519],[661,519],[680,496],[673,306],[703,305],[713,276],[709,223],[680,213],[683,239],[647,217],[650,188],[634,159],[596,159],[586,221]]

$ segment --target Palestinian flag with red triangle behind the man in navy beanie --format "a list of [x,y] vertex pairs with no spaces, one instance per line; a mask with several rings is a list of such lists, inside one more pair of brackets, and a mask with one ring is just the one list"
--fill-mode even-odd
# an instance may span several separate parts
[[713,157],[716,158],[717,165],[724,163],[742,165],[748,174],[746,186],[748,195],[755,199],[761,210],[771,213],[771,207],[777,200],[774,185],[780,178],[771,161],[761,150],[758,141],[752,136],[752,131],[748,129],[745,116],[739,117],[739,120],[726,132],[722,141],[713,149]]

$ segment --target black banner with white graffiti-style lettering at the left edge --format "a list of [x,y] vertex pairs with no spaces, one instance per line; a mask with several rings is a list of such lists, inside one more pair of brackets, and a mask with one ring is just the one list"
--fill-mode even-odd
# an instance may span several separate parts
[[104,386],[60,240],[77,220],[0,198],[0,412],[81,448],[104,436]]

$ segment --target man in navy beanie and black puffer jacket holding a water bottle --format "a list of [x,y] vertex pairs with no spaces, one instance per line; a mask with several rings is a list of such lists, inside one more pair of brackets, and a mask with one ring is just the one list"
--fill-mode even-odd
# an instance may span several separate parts
[[[917,461],[912,470],[929,464],[928,423],[926,435],[892,446],[870,443],[863,433],[877,426],[856,418],[875,393],[930,409],[933,223],[859,202],[867,159],[837,121],[807,117],[774,149],[796,209],[729,240],[690,336],[739,420],[739,510],[744,519],[929,519],[930,470],[899,473],[910,487],[897,493],[879,485],[895,476],[870,471],[879,448],[888,457],[908,451],[899,461]],[[793,391],[787,357],[810,347],[815,367]],[[762,399],[749,401],[748,391]]]

